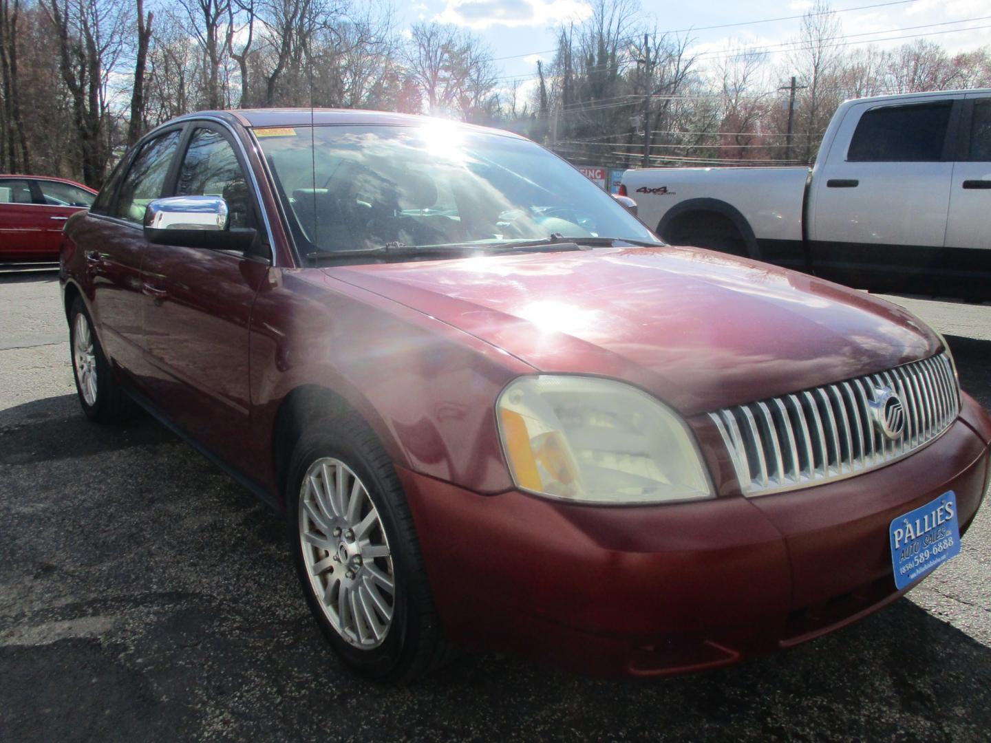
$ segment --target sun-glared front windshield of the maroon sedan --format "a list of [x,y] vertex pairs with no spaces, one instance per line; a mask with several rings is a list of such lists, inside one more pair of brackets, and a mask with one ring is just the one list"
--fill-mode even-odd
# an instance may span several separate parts
[[[257,129],[300,253],[471,250],[604,238],[659,244],[532,142],[446,122]],[[553,250],[553,245],[548,246]],[[575,246],[572,244],[571,248]],[[395,251],[397,254],[400,251]]]

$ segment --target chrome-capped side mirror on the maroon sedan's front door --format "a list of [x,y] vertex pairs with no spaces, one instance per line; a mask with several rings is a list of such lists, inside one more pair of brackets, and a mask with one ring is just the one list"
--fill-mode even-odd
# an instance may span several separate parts
[[145,207],[145,239],[156,245],[247,251],[252,229],[230,229],[230,208],[220,196],[169,196]]

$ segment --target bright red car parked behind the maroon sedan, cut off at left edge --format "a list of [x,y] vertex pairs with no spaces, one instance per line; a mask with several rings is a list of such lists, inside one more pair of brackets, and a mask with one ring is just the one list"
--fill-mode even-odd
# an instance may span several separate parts
[[65,220],[95,198],[64,178],[0,175],[0,261],[57,261]]

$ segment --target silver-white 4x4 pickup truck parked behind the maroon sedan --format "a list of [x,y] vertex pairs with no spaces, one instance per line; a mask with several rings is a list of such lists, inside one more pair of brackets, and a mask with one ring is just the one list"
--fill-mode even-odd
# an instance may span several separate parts
[[872,291],[991,298],[991,89],[846,101],[813,168],[627,170],[673,245]]

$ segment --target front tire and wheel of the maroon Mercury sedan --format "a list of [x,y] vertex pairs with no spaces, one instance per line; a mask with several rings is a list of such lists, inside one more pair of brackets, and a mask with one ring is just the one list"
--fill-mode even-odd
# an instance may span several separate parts
[[306,601],[345,663],[406,682],[449,659],[405,495],[364,421],[342,414],[299,437],[286,520]]

